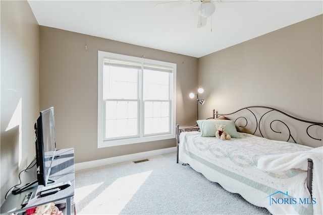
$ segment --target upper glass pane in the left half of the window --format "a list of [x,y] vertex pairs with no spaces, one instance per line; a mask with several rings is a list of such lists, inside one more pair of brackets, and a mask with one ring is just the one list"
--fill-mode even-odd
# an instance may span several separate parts
[[103,99],[137,99],[138,69],[103,66]]

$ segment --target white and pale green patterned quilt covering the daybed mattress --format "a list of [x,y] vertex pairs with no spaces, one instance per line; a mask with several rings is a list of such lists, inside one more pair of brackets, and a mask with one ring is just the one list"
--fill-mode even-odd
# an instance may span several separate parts
[[[266,207],[273,214],[312,214],[315,204],[306,187],[306,171],[271,172],[257,168],[258,160],[263,156],[306,152],[312,148],[239,134],[241,138],[220,140],[201,137],[196,131],[182,132],[179,159],[208,180],[239,193],[256,206]],[[304,165],[307,169],[306,161]]]

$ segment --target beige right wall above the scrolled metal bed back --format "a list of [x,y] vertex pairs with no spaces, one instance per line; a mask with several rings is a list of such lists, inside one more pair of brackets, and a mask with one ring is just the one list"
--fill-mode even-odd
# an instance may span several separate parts
[[322,17],[199,58],[206,99],[199,116],[265,105],[322,122]]

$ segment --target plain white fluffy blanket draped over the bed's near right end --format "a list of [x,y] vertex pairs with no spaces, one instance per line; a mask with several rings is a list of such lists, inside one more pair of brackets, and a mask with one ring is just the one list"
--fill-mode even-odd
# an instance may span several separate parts
[[259,158],[258,169],[269,172],[283,172],[291,169],[307,170],[307,159],[313,161],[312,178],[312,197],[316,203],[313,205],[314,214],[323,214],[322,209],[322,158],[323,147],[311,149],[309,151],[300,151],[294,153],[285,153],[281,155],[267,155]]

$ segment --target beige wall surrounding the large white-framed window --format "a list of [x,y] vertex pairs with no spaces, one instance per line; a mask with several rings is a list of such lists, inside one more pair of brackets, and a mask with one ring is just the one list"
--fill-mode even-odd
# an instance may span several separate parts
[[175,147],[176,140],[169,139],[97,148],[98,50],[177,63],[177,122],[195,117],[194,106],[184,104],[197,84],[197,58],[40,26],[39,108],[55,108],[58,149],[73,147],[79,163]]

